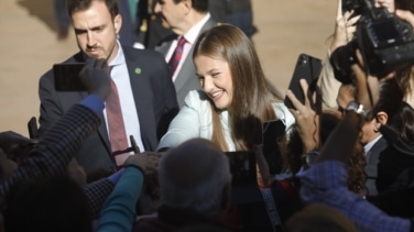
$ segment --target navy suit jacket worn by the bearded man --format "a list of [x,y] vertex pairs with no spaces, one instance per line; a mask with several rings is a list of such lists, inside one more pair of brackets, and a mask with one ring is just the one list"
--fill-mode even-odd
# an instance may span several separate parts
[[[171,120],[178,111],[171,73],[165,59],[153,51],[122,47],[130,76],[132,93],[145,151],[154,151],[161,136],[166,132]],[[65,63],[84,62],[78,53]],[[141,73],[137,74],[135,68]],[[56,122],[73,104],[87,96],[87,92],[57,92],[54,89],[53,71],[42,76],[39,87],[41,99],[40,135]],[[103,121],[103,113],[99,115]],[[128,125],[127,125],[128,126]],[[115,170],[115,158],[110,152],[108,132],[101,123],[98,132],[92,133],[76,155],[86,172],[96,168]]]

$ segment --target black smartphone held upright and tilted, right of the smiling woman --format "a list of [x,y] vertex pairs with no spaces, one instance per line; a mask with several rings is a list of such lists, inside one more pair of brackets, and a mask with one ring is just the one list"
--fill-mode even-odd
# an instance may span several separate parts
[[[299,100],[302,103],[305,102],[305,95],[302,91],[299,80],[306,79],[308,85],[310,85],[313,81],[317,81],[322,70],[322,59],[307,54],[301,54],[297,57],[295,69],[293,71],[291,82],[288,84],[288,89],[292,90],[297,100]],[[290,109],[295,109],[287,97],[284,99],[284,104]]]

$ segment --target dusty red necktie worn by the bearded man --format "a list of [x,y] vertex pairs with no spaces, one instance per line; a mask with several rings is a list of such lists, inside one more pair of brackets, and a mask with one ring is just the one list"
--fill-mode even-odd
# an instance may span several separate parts
[[112,154],[115,155],[117,166],[121,167],[123,165],[123,162],[129,156],[129,153],[121,152],[128,148],[128,139],[127,139],[126,126],[123,123],[118,89],[112,79],[111,79],[111,91],[106,101],[106,109],[107,109],[108,131],[109,131],[111,151],[112,151]]

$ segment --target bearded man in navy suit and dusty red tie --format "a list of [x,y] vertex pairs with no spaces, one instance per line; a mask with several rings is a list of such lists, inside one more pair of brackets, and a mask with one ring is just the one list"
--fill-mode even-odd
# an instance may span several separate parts
[[[133,135],[140,151],[154,151],[178,110],[171,73],[164,58],[153,51],[120,45],[117,36],[122,18],[118,12],[117,0],[69,0],[67,3],[81,52],[65,63],[85,62],[88,57],[107,59],[119,93],[121,110],[116,114],[123,121],[123,135]],[[73,104],[87,96],[87,92],[81,91],[56,91],[54,84],[52,70],[40,80],[40,136]],[[76,155],[87,173],[97,168],[113,172],[120,163],[112,155],[115,151],[110,144],[113,140],[110,141],[109,136],[111,123],[107,112],[108,107],[100,114],[106,123],[101,123],[98,132],[84,142]],[[127,143],[128,146],[132,145],[130,141]]]

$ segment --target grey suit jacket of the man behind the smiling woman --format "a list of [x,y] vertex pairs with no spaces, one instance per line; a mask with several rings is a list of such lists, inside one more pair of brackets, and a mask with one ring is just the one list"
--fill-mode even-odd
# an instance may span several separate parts
[[[211,29],[213,26],[217,25],[217,22],[210,18],[201,27],[200,33]],[[155,51],[164,54],[164,56],[168,53],[168,49],[176,37],[172,37],[172,40],[162,43],[160,46],[155,47]],[[194,46],[192,46],[187,57],[184,60],[182,68],[177,75],[177,78],[174,81],[175,90],[177,93],[177,100],[179,107],[184,104],[184,98],[189,90],[199,89],[199,81],[198,77],[196,76],[196,68],[193,63],[193,53]]]

